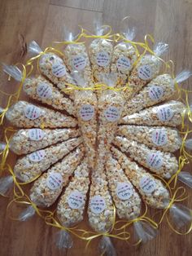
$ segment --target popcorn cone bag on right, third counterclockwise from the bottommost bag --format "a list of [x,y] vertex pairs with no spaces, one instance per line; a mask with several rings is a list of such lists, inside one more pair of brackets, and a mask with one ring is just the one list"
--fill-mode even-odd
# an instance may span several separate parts
[[129,153],[129,157],[133,158],[140,165],[148,168],[155,174],[164,179],[169,179],[175,174],[179,168],[177,158],[169,152],[146,147],[142,143],[134,140],[116,136],[113,143],[122,150]]

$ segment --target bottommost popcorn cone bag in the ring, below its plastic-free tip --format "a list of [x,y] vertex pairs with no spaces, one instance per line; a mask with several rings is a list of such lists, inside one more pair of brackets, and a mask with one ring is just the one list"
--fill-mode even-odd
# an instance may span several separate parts
[[89,225],[95,232],[110,231],[114,222],[114,209],[107,178],[103,170],[93,171],[89,192]]

